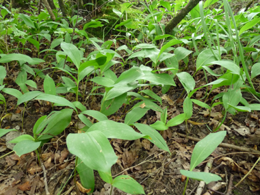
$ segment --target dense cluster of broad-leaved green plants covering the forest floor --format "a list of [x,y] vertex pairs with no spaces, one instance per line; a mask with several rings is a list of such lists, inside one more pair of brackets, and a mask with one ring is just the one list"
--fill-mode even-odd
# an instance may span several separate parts
[[[69,133],[66,144],[70,153],[76,155],[75,168],[83,187],[93,192],[94,170],[97,170],[103,181],[112,186],[130,194],[144,194],[142,186],[127,175],[113,179],[111,168],[118,157],[109,139],[144,138],[170,153],[164,138],[158,131],[164,131],[182,122],[187,124],[187,120],[193,114],[193,104],[205,107],[209,111],[216,105],[223,106],[224,117],[213,132],[218,131],[228,112],[236,114],[259,110],[260,105],[248,103],[243,98],[242,92],[250,92],[259,101],[260,94],[253,81],[260,74],[260,50],[258,49],[260,35],[257,30],[260,8],[250,8],[247,12],[241,11],[233,16],[229,2],[226,0],[207,0],[204,3],[200,1],[185,20],[181,21],[179,28],[174,29],[173,36],[165,34],[164,18],[175,16],[187,4],[183,1],[174,2],[170,4],[167,1],[153,1],[148,6],[144,3],[146,9],[138,18],[125,18],[115,25],[114,29],[120,32],[120,36],[116,38],[123,37],[127,40],[127,43],[118,47],[116,51],[112,49],[112,44],[116,45],[117,39],[104,42],[97,38],[90,38],[86,33],[86,29],[102,27],[102,23],[109,21],[96,19],[86,23],[80,30],[77,29],[76,24],[83,19],[81,16],[73,16],[65,20],[56,15],[56,21],[51,21],[45,11],[38,16],[34,12],[26,11],[31,15],[27,16],[10,12],[2,6],[1,38],[9,40],[12,45],[14,43],[18,45],[16,48],[6,45],[5,50],[0,50],[2,64],[0,103],[5,105],[2,116],[9,114],[3,94],[15,96],[17,105],[24,104],[25,109],[27,103],[34,99],[49,101],[53,103],[53,107],[66,107],[40,117],[34,125],[33,135],[21,135],[12,140],[12,143],[16,143],[14,146],[16,154],[21,156],[31,151],[36,151],[38,154],[42,144],[62,133],[68,127],[71,116],[77,116],[86,126],[81,129],[83,133]],[[210,5],[216,3],[219,5],[218,8],[209,9]],[[125,3],[121,11],[114,9],[114,12],[120,17],[124,16],[125,8],[130,6],[129,3]],[[145,15],[146,12],[148,14]],[[7,15],[8,17],[5,17]],[[75,39],[79,41],[77,44],[72,44],[72,40]],[[32,52],[27,48],[28,43],[33,44],[37,49],[36,57],[24,54],[25,50]],[[41,51],[42,44],[47,45],[48,48]],[[88,44],[93,44],[96,50],[86,57],[83,54]],[[23,47],[20,48],[19,45]],[[194,51],[191,48],[194,48]],[[127,53],[127,59],[120,56],[119,51]],[[222,59],[223,54],[228,55],[229,58]],[[43,59],[40,59],[40,56],[44,56]],[[49,64],[47,68],[31,68],[31,65],[43,63],[50,56],[55,57],[55,62]],[[192,58],[194,62],[195,57],[194,75],[203,70],[206,81],[208,74],[215,76],[217,78],[215,81],[195,88],[194,75],[179,70],[180,63],[187,66],[189,59]],[[3,82],[6,71],[9,70],[8,66],[13,61],[18,62],[20,70],[15,81],[19,90],[6,88]],[[124,68],[124,72],[119,77],[113,71],[115,64],[121,64]],[[125,66],[129,64],[130,68],[125,70]],[[218,74],[213,72],[211,70],[213,64],[220,66],[222,72]],[[53,80],[51,72],[54,73],[55,70],[62,71],[64,75],[61,77],[62,83],[55,83]],[[32,79],[27,79],[28,74]],[[43,92],[28,90],[27,86],[37,89],[35,82],[37,76],[44,80]],[[161,98],[152,89],[161,86],[161,91],[167,93],[171,86],[176,86],[175,77],[178,77],[187,95],[183,102],[183,114],[167,120],[167,108],[161,109],[159,106],[162,104]],[[88,110],[86,107],[86,92],[79,90],[80,85],[86,88],[86,82],[93,83],[91,95],[102,96],[99,111]],[[216,95],[208,105],[206,101],[209,94],[212,90],[221,87],[224,87],[225,91]],[[207,94],[204,100],[195,99],[193,96],[200,88],[206,88]],[[75,101],[71,102],[64,98],[68,93],[75,94]],[[109,120],[107,116],[118,112],[122,105],[131,107],[124,113],[125,122]],[[138,123],[148,109],[161,112],[160,120],[152,125]],[[86,116],[95,118],[96,122],[91,122]],[[0,136],[9,131],[14,129],[0,129]],[[181,174],[206,183],[220,180],[221,178],[216,174],[203,172],[194,174],[192,170],[213,152],[225,135],[225,131],[210,133],[198,142],[192,153],[190,171],[181,170]]]

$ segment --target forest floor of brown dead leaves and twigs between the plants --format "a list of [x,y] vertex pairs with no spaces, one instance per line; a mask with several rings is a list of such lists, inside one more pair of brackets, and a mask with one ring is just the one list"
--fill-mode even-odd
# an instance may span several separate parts
[[[50,59],[51,62],[51,59]],[[47,67],[49,62],[42,65]],[[187,66],[187,73],[193,75],[195,64]],[[42,67],[43,68],[43,67]],[[122,67],[121,67],[122,68]],[[122,72],[118,66],[116,75]],[[15,88],[16,83],[14,80],[18,75],[18,68],[13,68],[8,71],[8,75],[4,81],[10,88]],[[46,72],[48,73],[48,72]],[[61,73],[55,72],[53,80],[59,83]],[[203,72],[197,73],[194,77],[196,81],[196,88],[205,85],[206,81],[203,77]],[[215,80],[214,77],[209,77],[209,82]],[[36,79],[38,90],[43,90],[42,79]],[[163,100],[160,105],[162,109],[168,107],[168,119],[177,116],[183,112],[183,87],[178,79],[175,79],[177,87],[170,88],[167,94],[162,94],[160,88],[153,88],[158,96]],[[92,84],[86,83],[86,91],[92,90]],[[30,88],[29,88],[30,89]],[[30,90],[34,90],[31,88]],[[80,86],[83,90],[83,86]],[[213,97],[224,88],[217,88],[213,90],[209,96],[208,102],[210,103]],[[206,94],[205,88],[196,92],[196,98],[200,99]],[[248,101],[253,99],[252,96],[244,98]],[[90,96],[86,101],[86,106],[89,109],[99,110],[101,106],[101,96]],[[46,101],[30,101],[25,109],[25,114],[22,122],[22,113],[24,107],[16,107],[16,99],[13,96],[5,94],[5,99],[8,103],[8,113],[12,114],[9,119],[1,121],[2,128],[10,128],[19,130],[21,133],[32,135],[34,124],[40,116],[49,114],[52,111],[51,103]],[[69,101],[75,101],[75,96],[66,96]],[[84,100],[85,101],[85,100]],[[252,103],[254,101],[252,100]],[[4,109],[3,105],[0,105]],[[60,107],[54,107],[55,110]],[[128,107],[125,108],[126,110]],[[159,195],[159,194],[183,194],[185,186],[185,178],[181,176],[180,170],[189,170],[190,159],[195,144],[198,142],[196,139],[203,139],[209,134],[209,129],[214,129],[218,125],[218,121],[222,118],[222,107],[216,106],[211,111],[201,109],[194,105],[193,115],[188,120],[187,127],[183,123],[176,127],[170,127],[166,131],[161,131],[161,135],[166,140],[170,153],[163,151],[157,146],[151,144],[148,140],[140,139],[135,141],[109,140],[112,144],[116,155],[118,156],[117,163],[112,167],[112,176],[118,174],[128,174],[133,177],[138,183],[144,187],[146,194]],[[121,114],[124,112],[123,108],[120,112],[110,116],[109,120],[122,120]],[[147,114],[138,122],[142,124],[153,124],[159,118],[159,113],[149,110]],[[212,190],[217,182],[211,182],[205,187],[204,192],[215,192],[216,194],[227,194],[231,190],[231,194],[259,194],[260,190],[260,165],[257,164],[255,168],[248,174],[248,177],[242,181],[240,185],[234,187],[242,177],[252,168],[259,157],[259,153],[250,153],[245,148],[255,148],[259,146],[260,142],[260,113],[239,113],[235,116],[228,115],[221,129],[227,131],[226,138],[223,143],[232,146],[239,146],[239,150],[232,146],[219,146],[211,154],[213,157],[213,164],[211,172],[218,174],[222,177],[223,186],[218,190]],[[83,193],[83,187],[79,183],[80,179],[77,175],[77,192],[73,173],[75,168],[75,155],[69,153],[66,148],[66,135],[73,133],[77,127],[82,127],[83,124],[78,123],[78,118],[73,116],[70,125],[62,133],[56,136],[50,142],[44,144],[41,148],[42,161],[44,168],[38,164],[36,153],[28,153],[18,157],[15,153],[6,155],[12,152],[13,144],[8,143],[8,140],[21,135],[16,131],[11,131],[8,135],[0,138],[0,155],[6,155],[0,158],[0,195],[15,195],[15,194],[46,194],[44,187],[44,179],[47,179],[49,192],[51,194],[86,194]],[[207,127],[208,126],[208,127]],[[187,130],[188,129],[188,130]],[[88,149],[88,148],[86,148]],[[206,161],[196,167],[194,171],[204,171]],[[44,176],[44,173],[47,175]],[[229,183],[231,182],[231,185]],[[198,187],[199,181],[190,179],[186,194],[194,194]],[[233,187],[233,189],[231,189]],[[118,189],[113,189],[105,183],[100,177],[98,172],[95,172],[95,190],[93,195],[119,195],[126,194]]]

